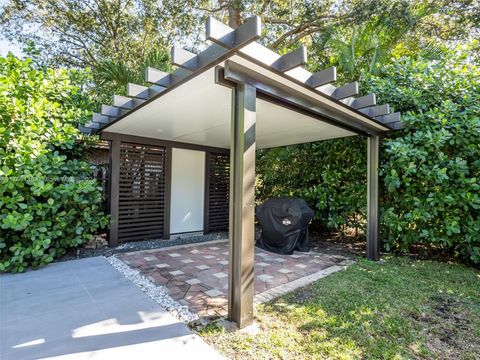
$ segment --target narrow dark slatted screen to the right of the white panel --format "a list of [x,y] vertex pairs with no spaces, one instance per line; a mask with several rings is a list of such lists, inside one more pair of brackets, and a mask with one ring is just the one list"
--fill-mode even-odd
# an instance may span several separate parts
[[228,230],[230,156],[228,154],[209,153],[208,170],[208,230]]

